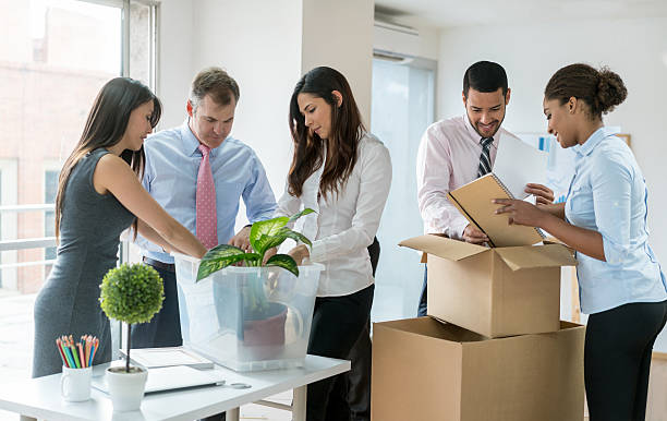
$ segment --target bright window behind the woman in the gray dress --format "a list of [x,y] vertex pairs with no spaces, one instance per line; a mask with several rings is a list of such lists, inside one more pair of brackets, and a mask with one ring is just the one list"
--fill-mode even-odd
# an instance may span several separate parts
[[[29,376],[58,175],[110,79],[155,81],[154,1],[0,2],[0,377]],[[1,416],[0,416],[1,418]]]

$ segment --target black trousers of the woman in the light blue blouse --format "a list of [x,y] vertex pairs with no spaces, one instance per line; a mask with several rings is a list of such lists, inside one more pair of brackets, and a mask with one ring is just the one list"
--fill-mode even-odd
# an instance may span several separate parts
[[640,421],[646,413],[653,344],[667,301],[630,303],[586,323],[584,378],[591,421]]

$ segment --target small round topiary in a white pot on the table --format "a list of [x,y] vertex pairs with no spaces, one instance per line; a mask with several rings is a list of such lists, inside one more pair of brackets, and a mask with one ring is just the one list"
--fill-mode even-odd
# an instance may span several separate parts
[[130,365],[131,329],[149,322],[162,308],[162,279],[150,266],[123,264],[110,269],[100,286],[99,303],[107,316],[128,325],[125,365],[107,369],[107,383],[117,411],[137,410],[144,397],[148,372]]

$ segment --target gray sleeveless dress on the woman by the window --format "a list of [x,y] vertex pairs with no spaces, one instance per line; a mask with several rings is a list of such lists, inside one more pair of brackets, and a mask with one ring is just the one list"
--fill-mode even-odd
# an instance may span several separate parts
[[105,148],[93,151],[74,167],[65,187],[56,263],[35,301],[33,377],[59,373],[62,361],[56,338],[99,338],[95,364],[111,360],[109,320],[99,306],[99,286],[116,267],[120,234],[134,215],[112,194],[99,194],[93,172]]

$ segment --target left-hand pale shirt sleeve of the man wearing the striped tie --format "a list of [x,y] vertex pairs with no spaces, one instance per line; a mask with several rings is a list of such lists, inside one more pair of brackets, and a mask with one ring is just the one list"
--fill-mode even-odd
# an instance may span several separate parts
[[460,239],[468,219],[449,202],[451,155],[437,128],[429,128],[420,143],[416,160],[417,201],[424,222],[451,238]]

